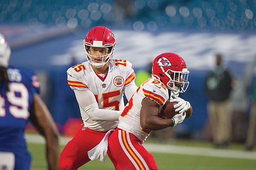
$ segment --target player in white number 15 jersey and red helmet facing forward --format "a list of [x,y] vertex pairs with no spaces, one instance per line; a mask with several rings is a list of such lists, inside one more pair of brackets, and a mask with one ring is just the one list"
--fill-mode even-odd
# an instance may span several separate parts
[[138,88],[133,65],[112,59],[115,46],[112,31],[96,26],[84,40],[87,61],[67,70],[67,82],[75,92],[83,125],[62,151],[60,170],[76,170],[90,161],[87,152],[118,125],[124,109],[123,94],[129,100]]

